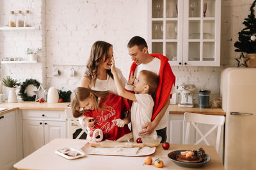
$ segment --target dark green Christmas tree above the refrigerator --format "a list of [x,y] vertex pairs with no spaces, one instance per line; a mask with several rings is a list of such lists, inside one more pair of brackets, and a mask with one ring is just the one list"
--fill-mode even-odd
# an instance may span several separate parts
[[238,32],[239,41],[234,44],[237,48],[236,52],[256,53],[256,18],[253,9],[255,4],[256,0],[252,3],[250,15],[248,15],[248,18],[244,18],[245,28]]

